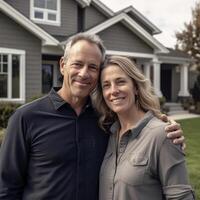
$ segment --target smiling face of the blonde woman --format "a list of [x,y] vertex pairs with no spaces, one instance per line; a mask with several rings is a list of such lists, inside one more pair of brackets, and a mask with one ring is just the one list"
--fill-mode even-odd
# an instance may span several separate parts
[[101,86],[107,106],[116,114],[126,114],[136,107],[133,81],[119,66],[108,65],[103,69]]

